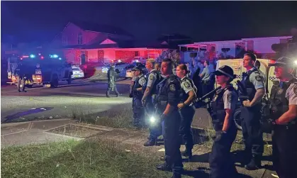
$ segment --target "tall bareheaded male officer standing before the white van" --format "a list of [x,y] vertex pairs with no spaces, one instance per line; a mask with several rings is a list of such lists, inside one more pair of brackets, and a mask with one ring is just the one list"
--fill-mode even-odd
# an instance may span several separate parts
[[[245,169],[259,169],[264,150],[262,130],[260,126],[262,97],[265,93],[264,76],[254,67],[257,57],[247,53],[243,57],[243,67],[247,72],[242,74],[242,84],[247,91],[248,99],[242,101],[242,135],[245,142],[245,158],[248,164]],[[240,92],[240,97],[245,94]]]

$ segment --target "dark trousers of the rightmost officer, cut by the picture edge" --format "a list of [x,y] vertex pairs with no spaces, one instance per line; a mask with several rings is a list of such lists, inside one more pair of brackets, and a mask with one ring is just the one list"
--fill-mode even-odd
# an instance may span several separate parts
[[280,178],[297,177],[297,124],[272,131],[272,157]]

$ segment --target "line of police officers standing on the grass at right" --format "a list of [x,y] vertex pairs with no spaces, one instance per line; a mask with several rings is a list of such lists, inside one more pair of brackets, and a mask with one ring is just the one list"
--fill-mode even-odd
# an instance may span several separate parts
[[[285,62],[282,62],[281,60],[284,60],[284,58],[278,60],[276,66],[281,64],[291,67],[291,70],[284,69],[284,73],[279,74],[278,76],[277,72],[279,72],[281,67],[276,67],[276,77],[279,79],[281,79],[281,76],[286,75],[286,72],[293,74],[292,70],[294,70],[293,65],[291,63],[288,64],[288,61],[291,60],[288,59],[288,61]],[[259,168],[261,166],[261,157],[263,153],[263,138],[259,119],[261,117],[261,100],[265,93],[264,76],[262,72],[259,72],[257,67],[254,67],[254,62],[256,62],[254,54],[248,53],[245,55],[243,66],[247,69],[247,72],[243,74],[242,77],[242,84],[244,85],[245,91],[239,92],[239,98],[242,101],[242,133],[245,140],[245,160],[248,160],[247,165],[245,165],[246,169]],[[148,63],[151,63],[151,65]],[[149,69],[150,74],[147,77],[146,85],[143,86],[157,87],[154,93],[157,95],[154,98],[157,107],[156,110],[154,110],[152,104],[150,106],[151,110],[147,111],[147,113],[150,115],[155,114],[155,116],[159,115],[159,118],[164,123],[165,163],[159,165],[157,169],[172,171],[174,172],[174,177],[181,177],[181,172],[183,171],[181,152],[179,151],[181,142],[176,138],[182,136],[186,139],[186,152],[184,152],[184,155],[191,157],[191,149],[193,148],[191,121],[194,116],[194,112],[191,112],[191,104],[193,102],[191,98],[193,98],[193,93],[196,93],[196,89],[194,89],[191,79],[186,77],[187,69],[184,65],[179,65],[179,67],[176,68],[176,75],[181,78],[181,82],[174,74],[172,74],[173,64],[169,59],[162,61],[161,70],[164,79],[162,79],[159,84],[150,82],[150,84],[147,85],[149,80],[157,80],[157,77],[150,77],[152,76],[151,66],[153,66],[153,62],[147,62],[146,67]],[[233,70],[228,66],[220,67],[215,71],[216,82],[220,84],[221,88],[216,91],[211,102],[211,116],[213,128],[215,129],[215,140],[213,141],[213,148],[209,160],[211,177],[225,177],[227,175],[228,177],[236,177],[237,174],[234,162],[230,159],[230,148],[237,134],[234,121],[232,121],[232,114],[236,109],[238,95],[230,84],[234,78]],[[293,140],[297,132],[297,84],[296,79],[293,79],[292,76],[291,78],[287,77],[285,79],[287,79],[288,82],[281,82],[281,88],[271,92],[271,111],[273,111],[273,113],[276,113],[277,111],[279,114],[273,114],[272,119],[269,120],[269,124],[274,126],[272,139],[276,172],[279,174],[279,177],[293,178],[297,177],[297,144],[295,142],[293,144],[289,142],[290,140]],[[139,85],[142,85],[143,83],[144,82],[139,82],[138,80]],[[147,91],[147,87],[145,91]],[[134,89],[140,91],[140,86],[135,87]],[[149,91],[154,90],[149,88]],[[150,94],[150,92],[147,93]],[[286,95],[283,93],[286,93]],[[147,96],[149,95],[142,96],[142,104],[144,104],[144,106],[147,106],[146,101],[149,99]],[[152,94],[150,96],[152,96]],[[154,103],[154,101],[151,102]],[[281,109],[276,109],[277,107],[274,107],[276,104],[279,104],[279,107],[282,106]],[[160,128],[161,121],[157,123],[157,128]],[[159,135],[161,135],[160,132]],[[145,145],[155,145],[156,140],[154,139],[156,138],[150,136],[150,140],[148,140]]]

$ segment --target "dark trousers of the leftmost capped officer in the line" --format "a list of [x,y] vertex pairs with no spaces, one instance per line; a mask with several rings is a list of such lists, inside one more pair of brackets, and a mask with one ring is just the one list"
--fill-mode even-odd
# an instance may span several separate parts
[[138,96],[133,97],[132,101],[133,109],[133,125],[139,126],[144,124],[145,108],[142,106],[141,98]]

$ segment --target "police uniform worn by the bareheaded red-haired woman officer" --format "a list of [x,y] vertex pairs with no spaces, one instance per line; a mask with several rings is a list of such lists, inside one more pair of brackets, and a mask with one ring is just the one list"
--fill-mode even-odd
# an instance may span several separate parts
[[[194,91],[194,94],[196,94],[197,89],[189,77],[183,77],[181,79],[181,103],[184,103],[184,101],[189,98],[190,91]],[[191,123],[195,114],[195,106],[184,106],[181,110],[179,110],[179,113],[181,114],[179,135],[184,140],[184,145],[186,146],[186,150],[185,152],[182,152],[182,155],[191,157],[191,150],[194,146]]]

